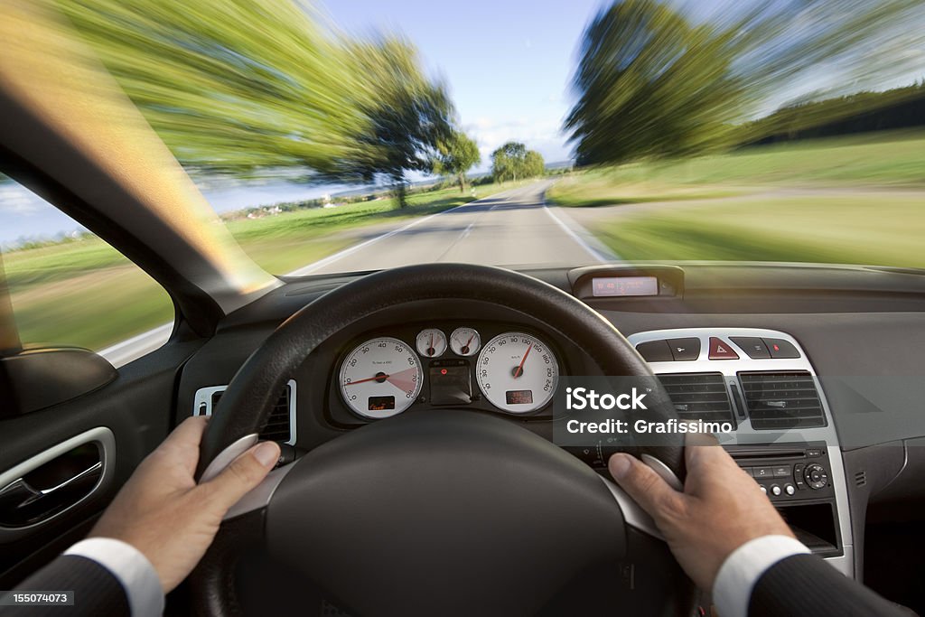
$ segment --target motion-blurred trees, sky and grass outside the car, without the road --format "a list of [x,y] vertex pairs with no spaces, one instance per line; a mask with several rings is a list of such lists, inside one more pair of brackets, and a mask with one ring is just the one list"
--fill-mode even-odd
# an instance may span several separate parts
[[[925,267],[920,0],[30,4],[274,274],[540,177],[614,259]],[[0,246],[26,342],[173,315],[2,176]]]

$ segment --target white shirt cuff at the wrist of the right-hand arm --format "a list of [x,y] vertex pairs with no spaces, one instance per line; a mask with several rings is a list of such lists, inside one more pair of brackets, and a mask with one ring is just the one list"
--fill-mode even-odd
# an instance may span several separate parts
[[713,604],[722,617],[747,617],[751,592],[772,565],[808,553],[806,546],[789,536],[763,536],[749,540],[722,562],[713,583]]

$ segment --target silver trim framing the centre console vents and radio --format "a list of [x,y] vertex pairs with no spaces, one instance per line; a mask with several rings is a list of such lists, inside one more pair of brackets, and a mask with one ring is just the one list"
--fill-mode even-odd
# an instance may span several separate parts
[[[631,334],[627,339],[635,345],[648,340],[660,339],[686,339],[700,340],[700,354],[697,360],[674,362],[650,362],[649,366],[656,375],[664,373],[721,373],[725,377],[726,387],[730,383],[737,383],[737,374],[742,371],[807,371],[812,376],[822,411],[825,415],[826,426],[813,428],[800,428],[783,431],[755,430],[749,419],[739,420],[734,436],[718,435],[722,443],[759,444],[759,443],[791,443],[803,441],[824,441],[829,453],[829,462],[832,466],[832,484],[835,492],[835,506],[838,510],[839,534],[842,538],[844,555],[830,557],[827,561],[833,564],[840,572],[847,576],[854,576],[854,537],[851,533],[851,514],[848,508],[847,483],[845,479],[845,466],[842,462],[842,451],[839,447],[838,433],[835,430],[832,410],[822,389],[816,369],[809,361],[807,352],[793,336],[780,330],[771,330],[757,327],[685,327],[661,330],[648,330]],[[738,360],[710,360],[709,338],[717,337],[738,354]],[[759,337],[770,339],[783,339],[792,343],[800,352],[799,358],[762,358],[752,359],[741,347],[736,345],[730,337]],[[849,558],[850,556],[850,558]],[[847,559],[846,559],[847,558]]]

